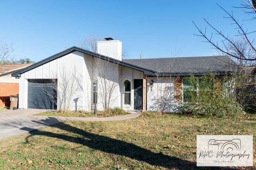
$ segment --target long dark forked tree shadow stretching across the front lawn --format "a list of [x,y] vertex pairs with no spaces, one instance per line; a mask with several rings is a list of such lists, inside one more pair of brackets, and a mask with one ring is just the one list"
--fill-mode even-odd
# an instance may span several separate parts
[[72,132],[74,134],[81,135],[82,137],[67,136],[65,134],[57,134],[52,132],[45,132],[42,130],[30,131],[30,136],[33,135],[42,135],[52,138],[57,138],[61,140],[66,140],[68,142],[75,142],[77,144],[82,144],[88,146],[95,150],[100,150],[102,152],[116,154],[121,156],[126,156],[138,161],[147,162],[153,166],[162,166],[170,169],[177,170],[194,170],[194,169],[207,169],[207,170],[230,170],[230,168],[219,168],[219,167],[196,167],[195,162],[190,162],[176,158],[174,156],[168,156],[161,153],[155,153],[150,150],[141,148],[131,143],[127,143],[121,140],[109,138],[106,136],[101,136],[98,134],[92,134],[86,132],[85,130],[70,126],[63,122],[52,125],[54,128],[59,128]]

